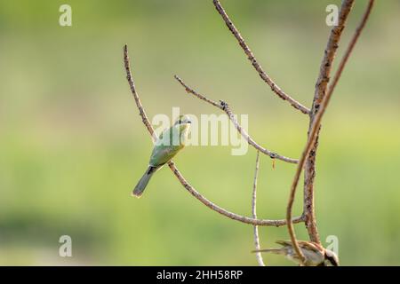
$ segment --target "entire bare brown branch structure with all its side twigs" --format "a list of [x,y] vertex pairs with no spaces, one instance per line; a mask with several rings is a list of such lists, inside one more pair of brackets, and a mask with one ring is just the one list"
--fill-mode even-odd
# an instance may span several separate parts
[[[250,50],[248,45],[244,42],[244,38],[240,35],[240,33],[236,29],[235,25],[229,19],[228,14],[225,12],[225,10],[220,5],[220,2],[218,0],[213,0],[213,4],[215,5],[215,8],[220,13],[222,19],[227,24],[229,30],[236,37],[236,40],[238,41],[239,45],[244,50],[244,53],[247,55],[248,59],[251,61],[252,66],[259,73],[260,77],[266,83],[268,83],[271,90],[274,91],[276,93],[276,95],[278,95],[281,99],[289,101],[294,108],[300,110],[302,113],[309,114],[310,124],[309,124],[309,129],[308,129],[308,141],[307,141],[306,146],[303,149],[303,152],[301,154],[299,161],[292,159],[292,158],[287,158],[280,154],[273,153],[273,152],[269,151],[268,149],[257,144],[248,135],[248,133],[241,127],[241,125],[237,122],[236,115],[232,113],[232,111],[230,110],[230,108],[228,107],[228,104],[226,102],[221,101],[221,100],[220,100],[220,102],[216,102],[216,101],[213,101],[212,99],[208,99],[204,95],[189,88],[188,85],[186,83],[183,83],[183,81],[178,76],[175,76],[175,78],[178,80],[178,82],[185,88],[186,91],[188,91],[188,93],[191,93],[192,95],[196,96],[198,99],[202,99],[202,100],[206,101],[207,103],[211,104],[212,106],[216,106],[216,107],[220,108],[222,111],[224,111],[228,115],[230,121],[235,125],[236,130],[242,135],[242,137],[245,138],[245,140],[249,143],[249,145],[253,146],[256,150],[258,150],[257,160],[256,160],[256,170],[255,170],[254,181],[253,181],[253,192],[252,192],[252,217],[245,217],[245,216],[238,215],[236,213],[228,211],[227,209],[221,208],[220,206],[214,204],[212,201],[209,201],[201,193],[198,193],[196,191],[196,189],[188,183],[188,181],[181,175],[180,171],[177,169],[174,162],[172,162],[172,161],[168,162],[168,166],[172,170],[175,177],[178,178],[178,180],[180,181],[180,184],[183,185],[186,188],[186,190],[188,190],[189,193],[191,193],[198,201],[201,201],[206,207],[212,209],[213,211],[220,213],[221,215],[223,215],[225,217],[229,217],[238,222],[253,225],[254,226],[254,231],[253,231],[254,243],[255,243],[256,249],[260,248],[260,240],[259,240],[259,235],[258,235],[258,230],[257,230],[258,225],[274,225],[274,226],[287,225],[288,232],[289,232],[291,240],[292,240],[293,248],[295,249],[297,255],[300,258],[300,264],[304,264],[305,257],[299,248],[299,244],[296,239],[296,234],[294,232],[293,224],[305,222],[306,226],[308,228],[308,235],[309,235],[310,241],[320,242],[317,228],[316,228],[316,217],[315,217],[315,211],[314,211],[315,210],[314,209],[314,177],[315,177],[315,158],[316,158],[316,147],[317,147],[318,134],[319,134],[323,115],[324,115],[326,108],[329,105],[330,99],[332,97],[332,92],[334,91],[335,86],[337,85],[337,83],[340,79],[340,75],[342,74],[343,69],[346,66],[346,63],[348,61],[348,58],[349,58],[351,52],[353,51],[354,46],[356,45],[356,41],[357,41],[358,37],[360,36],[361,32],[364,29],[365,23],[368,20],[368,17],[371,13],[373,3],[374,3],[373,0],[369,1],[368,7],[367,7],[366,11],[364,12],[363,19],[361,20],[360,24],[356,28],[356,32],[355,32],[354,36],[352,37],[350,43],[348,44],[347,51],[345,52],[343,58],[341,59],[338,70],[336,71],[336,74],[333,77],[332,83],[328,88],[328,83],[329,83],[330,74],[331,74],[331,70],[332,70],[332,62],[333,62],[333,59],[335,58],[336,51],[339,47],[340,36],[342,34],[343,29],[345,28],[345,24],[348,19],[348,14],[351,11],[351,8],[354,4],[354,0],[343,0],[341,8],[340,8],[339,23],[336,27],[332,28],[326,49],[324,51],[324,59],[322,60],[320,72],[319,72],[318,79],[316,82],[316,92],[315,92],[315,96],[314,96],[314,100],[313,100],[313,105],[312,105],[311,110],[309,110],[306,106],[302,106],[299,102],[292,99],[292,97],[290,97],[284,91],[282,91],[282,89],[280,89],[276,85],[276,83],[274,83],[272,81],[272,79],[265,73],[265,71],[262,69],[262,67],[260,67],[260,64],[258,63],[257,59],[255,59],[255,57],[252,54],[252,51]],[[155,140],[156,136],[155,136],[153,127],[151,126],[151,123],[148,121],[148,116],[147,116],[143,106],[141,105],[139,95],[136,91],[136,88],[135,88],[135,85],[134,85],[134,82],[132,79],[131,67],[130,67],[130,62],[129,62],[129,57],[128,57],[128,49],[127,49],[126,45],[124,45],[124,66],[125,66],[125,70],[126,70],[126,77],[127,77],[128,83],[130,85],[132,95],[135,99],[136,106],[138,106],[142,122],[145,124],[145,126],[148,129],[148,132],[152,136],[153,140]],[[259,171],[260,152],[262,154],[267,154],[269,157],[271,157],[273,159],[279,159],[284,162],[292,162],[292,163],[298,164],[296,173],[295,173],[295,175],[293,177],[293,181],[292,181],[291,191],[290,191],[289,200],[288,200],[288,204],[287,204],[287,208],[286,208],[286,218],[285,219],[278,219],[278,220],[258,219],[256,216],[256,188],[257,188],[257,177],[258,177],[258,171]],[[300,174],[301,174],[303,167],[305,168],[305,173],[306,173],[305,174],[305,186],[304,186],[304,212],[300,217],[293,218],[292,217],[292,206],[293,206],[293,202],[295,199],[296,188],[299,183]],[[257,256],[257,257],[258,257],[259,264],[260,265],[263,264],[262,258],[260,256]]]

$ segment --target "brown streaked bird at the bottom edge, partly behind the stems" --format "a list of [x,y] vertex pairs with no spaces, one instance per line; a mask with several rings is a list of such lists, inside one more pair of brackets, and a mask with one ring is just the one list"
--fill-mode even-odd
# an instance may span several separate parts
[[[252,252],[271,252],[276,255],[283,255],[286,258],[300,264],[299,256],[292,246],[292,241],[276,241],[282,248],[257,249]],[[329,249],[312,241],[298,241],[301,252],[306,258],[306,266],[339,266],[339,258]]]

